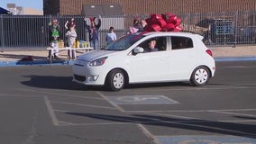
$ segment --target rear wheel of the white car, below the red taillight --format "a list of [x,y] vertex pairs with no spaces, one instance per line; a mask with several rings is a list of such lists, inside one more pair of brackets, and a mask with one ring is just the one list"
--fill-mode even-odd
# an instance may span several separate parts
[[190,77],[190,83],[196,86],[203,86],[208,83],[209,79],[210,79],[209,69],[207,67],[200,66],[193,71]]

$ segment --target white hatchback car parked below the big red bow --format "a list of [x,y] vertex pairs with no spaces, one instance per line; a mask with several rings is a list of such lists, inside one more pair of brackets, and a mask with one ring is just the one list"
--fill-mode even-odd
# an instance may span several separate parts
[[[149,40],[158,51],[145,52]],[[80,55],[72,66],[73,81],[105,85],[121,90],[124,85],[160,82],[190,82],[206,85],[215,75],[212,51],[203,37],[187,32],[147,32],[123,36],[105,49]]]

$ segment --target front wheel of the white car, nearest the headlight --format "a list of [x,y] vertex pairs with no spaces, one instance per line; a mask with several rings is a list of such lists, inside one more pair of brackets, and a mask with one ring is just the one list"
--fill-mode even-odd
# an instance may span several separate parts
[[109,72],[106,77],[105,85],[112,91],[119,91],[123,88],[125,83],[125,77],[123,71],[120,69],[114,69]]

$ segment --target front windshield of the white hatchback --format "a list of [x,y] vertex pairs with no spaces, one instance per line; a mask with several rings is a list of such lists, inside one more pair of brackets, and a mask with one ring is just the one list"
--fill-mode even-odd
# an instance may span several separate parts
[[130,48],[136,41],[141,40],[144,36],[142,34],[129,34],[121,37],[118,40],[110,43],[105,47],[105,50],[124,50]]

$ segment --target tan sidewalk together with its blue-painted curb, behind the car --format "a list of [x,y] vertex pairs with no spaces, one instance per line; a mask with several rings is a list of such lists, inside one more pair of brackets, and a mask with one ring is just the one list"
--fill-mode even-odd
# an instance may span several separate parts
[[[256,60],[256,46],[210,47],[216,61]],[[78,55],[83,51],[78,51]],[[2,50],[0,52],[0,67],[23,65],[69,65],[72,60],[67,58],[67,50],[59,52],[59,58],[50,63],[48,50]]]

